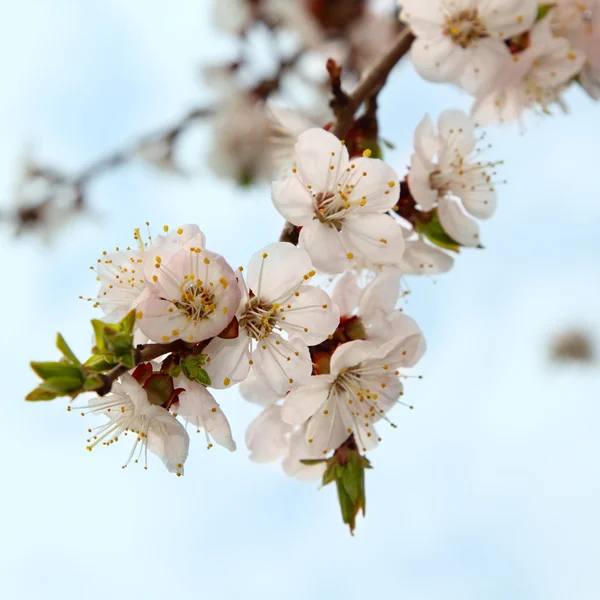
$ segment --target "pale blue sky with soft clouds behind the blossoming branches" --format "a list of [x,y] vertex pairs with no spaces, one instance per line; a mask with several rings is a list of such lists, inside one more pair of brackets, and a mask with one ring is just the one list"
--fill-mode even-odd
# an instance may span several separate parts
[[[176,8],[171,6],[177,5]],[[7,202],[25,145],[78,169],[205,96],[202,62],[230,51],[209,0],[22,0],[0,19],[0,189]],[[600,106],[579,90],[568,116],[527,131],[491,128],[504,159],[484,251],[411,280],[405,307],[428,340],[369,458],[367,519],[351,538],[333,487],[254,465],[243,445],[257,414],[218,392],[238,452],[192,439],[186,475],[127,449],[85,451],[86,420],[66,402],[31,405],[32,359],[52,360],[56,331],[81,356],[94,295],[88,266],[149,220],[195,222],[233,265],[277,238],[268,188],[240,191],[206,169],[193,180],[134,165],[99,180],[93,216],[52,248],[0,230],[0,597],[218,597],[592,600],[600,597],[600,368],[549,365],[556,331],[600,332]],[[387,160],[401,175],[428,111],[469,98],[420,80],[407,62],[381,97]],[[196,148],[201,167],[210,143]]]

